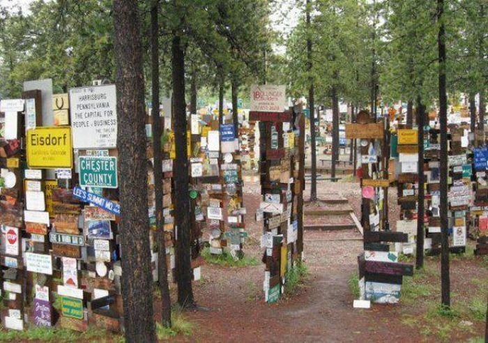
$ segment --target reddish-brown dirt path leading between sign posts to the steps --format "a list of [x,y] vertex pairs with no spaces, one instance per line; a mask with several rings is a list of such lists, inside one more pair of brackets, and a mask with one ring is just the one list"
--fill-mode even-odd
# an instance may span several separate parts
[[[323,192],[330,189],[351,198],[351,206],[359,215],[357,184],[335,183],[319,188]],[[259,188],[249,185],[245,192],[248,213],[254,213],[257,204]],[[247,225],[250,236],[259,238],[262,223],[247,221],[250,222]],[[208,310],[187,312],[197,328],[191,337],[180,336],[176,341],[297,343],[421,342],[425,339],[419,330],[402,323],[405,308],[401,304],[374,305],[372,310],[353,309],[348,281],[357,270],[356,258],[362,251],[358,232],[305,231],[304,238],[310,278],[298,294],[276,304],[264,303],[263,265],[203,266],[203,280],[195,285],[195,299]],[[258,242],[258,239],[251,240],[245,251],[260,260]],[[410,311],[414,312],[415,307]]]

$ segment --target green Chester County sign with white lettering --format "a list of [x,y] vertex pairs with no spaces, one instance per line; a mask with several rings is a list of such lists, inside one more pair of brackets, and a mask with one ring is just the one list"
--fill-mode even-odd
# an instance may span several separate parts
[[117,158],[113,156],[79,156],[79,185],[117,188]]

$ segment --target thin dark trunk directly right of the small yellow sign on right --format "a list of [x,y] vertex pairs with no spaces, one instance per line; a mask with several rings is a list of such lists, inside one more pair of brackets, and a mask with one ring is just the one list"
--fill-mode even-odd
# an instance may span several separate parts
[[424,125],[425,107],[422,98],[417,97],[417,125],[418,125],[418,210],[417,210],[417,254],[415,267],[424,266],[424,213],[425,213],[425,175],[424,175]]

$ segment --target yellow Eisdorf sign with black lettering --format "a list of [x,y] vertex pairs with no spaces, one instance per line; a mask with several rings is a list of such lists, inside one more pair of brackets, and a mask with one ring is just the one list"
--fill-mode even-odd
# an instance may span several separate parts
[[73,144],[69,126],[27,130],[29,168],[72,168]]

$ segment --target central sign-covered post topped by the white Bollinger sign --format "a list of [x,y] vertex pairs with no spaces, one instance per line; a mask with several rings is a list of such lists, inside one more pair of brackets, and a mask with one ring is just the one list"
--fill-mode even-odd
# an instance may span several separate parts
[[253,86],[250,120],[259,121],[262,200],[256,213],[264,222],[264,294],[280,298],[287,273],[303,252],[305,116],[285,112],[284,86]]

